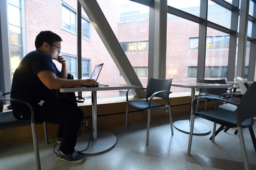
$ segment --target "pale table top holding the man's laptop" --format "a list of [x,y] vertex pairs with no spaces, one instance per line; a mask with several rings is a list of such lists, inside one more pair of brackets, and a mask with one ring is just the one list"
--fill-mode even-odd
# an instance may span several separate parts
[[99,87],[72,87],[72,88],[61,88],[60,92],[89,92],[89,91],[104,91],[104,90],[124,90],[124,89],[135,89],[135,85],[123,85],[117,83],[104,83],[109,86]]

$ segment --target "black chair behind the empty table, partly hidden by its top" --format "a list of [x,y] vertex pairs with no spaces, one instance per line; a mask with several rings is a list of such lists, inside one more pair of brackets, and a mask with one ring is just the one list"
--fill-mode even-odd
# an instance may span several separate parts
[[[225,79],[218,79],[218,80],[206,80],[206,79],[199,79],[199,83],[207,83],[207,84],[224,84],[226,85],[226,80]],[[200,96],[204,96],[204,97],[217,97],[219,98],[222,94],[226,94],[228,90],[232,90],[234,89],[233,92],[236,92],[236,88],[232,87],[232,88],[201,88],[199,90],[199,95]],[[221,96],[221,98],[231,98],[231,96],[227,96],[227,95],[223,95]],[[210,98],[204,98],[205,99],[205,104],[204,104],[204,110],[206,110],[206,101],[210,100],[210,101],[214,101]],[[196,105],[196,111],[198,109],[198,105],[199,105],[199,99],[197,100],[197,105]]]

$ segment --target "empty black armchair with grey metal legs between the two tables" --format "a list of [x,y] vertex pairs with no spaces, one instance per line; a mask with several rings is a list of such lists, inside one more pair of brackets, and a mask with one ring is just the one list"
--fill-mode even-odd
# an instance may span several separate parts
[[[150,78],[148,81],[147,88],[144,87],[136,87],[142,88],[146,90],[146,100],[128,100],[128,92],[126,91],[126,119],[125,119],[125,129],[127,129],[127,116],[128,116],[128,106],[136,108],[138,110],[147,110],[148,111],[148,126],[147,126],[147,140],[146,145],[148,146],[148,137],[149,137],[149,124],[151,123],[150,111],[166,107],[165,104],[157,104],[152,102],[153,97],[160,97],[167,102],[169,109],[169,117],[170,117],[170,125],[171,131],[173,135],[173,127],[172,127],[172,114],[171,114],[171,106],[169,100],[170,88],[172,85],[172,79],[155,79]],[[148,100],[149,98],[149,100]]]

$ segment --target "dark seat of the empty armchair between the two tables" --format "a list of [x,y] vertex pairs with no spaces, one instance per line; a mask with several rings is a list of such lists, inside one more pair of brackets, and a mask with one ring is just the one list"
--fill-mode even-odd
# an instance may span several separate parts
[[[147,110],[148,109],[148,100],[130,100],[130,101],[127,101],[126,104],[128,106],[131,106],[131,107],[139,109],[139,110]],[[164,104],[157,104],[157,103],[151,102],[150,109],[159,109],[164,106],[165,106]]]

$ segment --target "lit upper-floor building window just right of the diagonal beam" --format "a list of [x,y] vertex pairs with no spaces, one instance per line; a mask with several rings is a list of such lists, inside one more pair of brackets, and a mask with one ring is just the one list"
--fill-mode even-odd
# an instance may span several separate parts
[[124,52],[148,51],[148,41],[121,42]]

